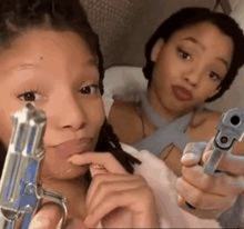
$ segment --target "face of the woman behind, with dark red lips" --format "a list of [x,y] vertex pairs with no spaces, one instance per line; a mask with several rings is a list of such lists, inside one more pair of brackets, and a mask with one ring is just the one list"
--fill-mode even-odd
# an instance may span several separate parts
[[150,90],[171,113],[186,112],[217,92],[232,56],[232,39],[212,23],[176,31],[153,49],[155,68]]

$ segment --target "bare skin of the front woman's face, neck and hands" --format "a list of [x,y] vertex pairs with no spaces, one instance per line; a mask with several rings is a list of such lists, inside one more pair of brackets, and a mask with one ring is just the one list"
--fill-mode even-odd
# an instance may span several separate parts
[[[8,146],[11,113],[27,101],[45,112],[40,181],[67,198],[69,229],[95,227],[101,220],[118,226],[123,217],[129,217],[124,227],[157,227],[153,193],[143,178],[129,175],[111,153],[93,152],[104,109],[98,59],[84,40],[70,31],[32,29],[3,51],[0,61],[0,138]],[[58,151],[57,145],[78,138],[83,139],[81,153]],[[94,176],[87,190],[84,173],[93,163],[103,166],[106,175]],[[121,211],[112,212],[118,207]],[[60,217],[57,206],[45,203],[31,228],[55,228]]]

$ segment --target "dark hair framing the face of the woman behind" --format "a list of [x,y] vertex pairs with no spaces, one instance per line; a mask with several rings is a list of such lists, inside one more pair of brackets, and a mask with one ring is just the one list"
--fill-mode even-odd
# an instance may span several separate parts
[[145,47],[146,64],[143,68],[143,73],[149,80],[149,87],[152,80],[152,72],[154,68],[154,62],[151,61],[151,52],[156,41],[162,38],[164,42],[167,42],[174,32],[200,22],[210,22],[216,26],[223,33],[230,36],[234,42],[234,52],[230,70],[218,86],[220,91],[212,98],[207,99],[206,102],[211,102],[222,97],[222,94],[230,88],[237,74],[237,70],[244,63],[243,31],[231,17],[224,13],[212,12],[206,8],[185,8],[180,10],[166,19],[150,38]]

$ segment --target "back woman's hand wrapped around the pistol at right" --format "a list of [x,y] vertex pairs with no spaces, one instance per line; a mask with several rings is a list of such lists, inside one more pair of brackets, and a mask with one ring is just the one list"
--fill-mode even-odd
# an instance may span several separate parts
[[[234,169],[232,162],[222,160],[217,167],[221,172],[207,176],[203,172],[204,163],[212,152],[212,141],[206,146],[203,155],[192,153],[185,148],[182,157],[182,177],[176,181],[179,192],[179,206],[200,218],[218,218],[225,210],[233,207],[237,196],[243,192],[244,180]],[[231,168],[230,171],[226,171]],[[223,172],[225,170],[225,172]],[[187,203],[195,209],[189,207]]]

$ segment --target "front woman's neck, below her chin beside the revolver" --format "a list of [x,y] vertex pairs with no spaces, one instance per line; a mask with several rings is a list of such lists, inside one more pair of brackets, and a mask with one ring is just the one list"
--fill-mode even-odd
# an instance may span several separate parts
[[[84,177],[74,180],[45,180],[43,188],[67,198],[68,218],[85,218],[85,193],[88,182]],[[74,205],[75,203],[75,205]]]

